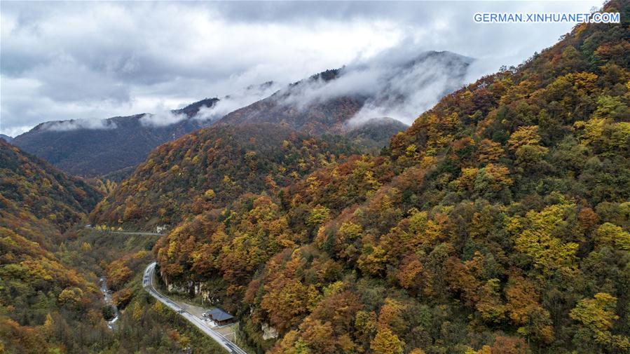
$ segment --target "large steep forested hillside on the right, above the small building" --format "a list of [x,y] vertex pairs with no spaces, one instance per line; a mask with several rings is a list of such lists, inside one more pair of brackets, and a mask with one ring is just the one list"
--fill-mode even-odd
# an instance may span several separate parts
[[605,11],[383,156],[191,210],[163,278],[269,353],[630,353],[630,3]]

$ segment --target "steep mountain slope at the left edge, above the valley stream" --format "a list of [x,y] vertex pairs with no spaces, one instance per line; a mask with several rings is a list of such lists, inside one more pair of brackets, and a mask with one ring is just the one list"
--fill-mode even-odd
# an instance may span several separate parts
[[6,353],[48,352],[46,334],[36,327],[52,324],[54,311],[98,301],[83,275],[53,250],[100,198],[81,179],[0,141],[0,348]]

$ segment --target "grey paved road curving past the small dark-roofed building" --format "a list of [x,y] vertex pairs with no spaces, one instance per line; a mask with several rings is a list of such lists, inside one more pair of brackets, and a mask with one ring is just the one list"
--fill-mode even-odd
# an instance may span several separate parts
[[229,353],[247,354],[245,350],[242,350],[235,343],[231,342],[219,332],[210,328],[210,326],[206,325],[205,322],[200,320],[197,316],[192,315],[171,299],[165,297],[163,294],[160,294],[160,292],[158,292],[158,290],[156,290],[156,288],[153,286],[153,273],[155,273],[155,271],[156,262],[149,264],[149,266],[144,269],[144,277],[142,278],[142,286],[144,287],[144,290],[149,292],[152,297],[158,299],[158,301],[160,301],[162,304],[165,304],[173,311],[179,313],[179,315],[182,315],[183,318],[186,318],[186,320],[191,322],[198,329],[201,329],[202,332],[210,336],[210,338],[214,339],[214,341],[216,341],[217,343],[221,344],[221,346],[228,350]]

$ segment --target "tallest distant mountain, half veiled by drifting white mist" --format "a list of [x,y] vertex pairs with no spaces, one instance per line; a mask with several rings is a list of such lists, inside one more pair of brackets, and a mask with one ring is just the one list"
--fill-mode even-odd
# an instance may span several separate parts
[[[219,122],[276,123],[322,135],[343,134],[352,118],[365,121],[388,113],[397,114],[395,118],[412,118],[460,88],[471,62],[471,58],[454,53],[426,52],[413,60],[327,70],[237,109]],[[409,107],[413,107],[412,113],[400,111]]]

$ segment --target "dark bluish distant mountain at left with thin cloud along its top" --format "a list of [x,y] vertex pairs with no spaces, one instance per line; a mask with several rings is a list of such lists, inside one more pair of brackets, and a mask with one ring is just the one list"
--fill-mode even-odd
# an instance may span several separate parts
[[[206,99],[167,114],[137,114],[108,118],[98,124],[54,121],[37,125],[13,139],[13,144],[72,175],[95,177],[144,161],[164,142],[198,130],[211,121],[192,118],[218,99]],[[164,117],[164,116],[167,117]],[[159,119],[181,120],[161,125]]]

